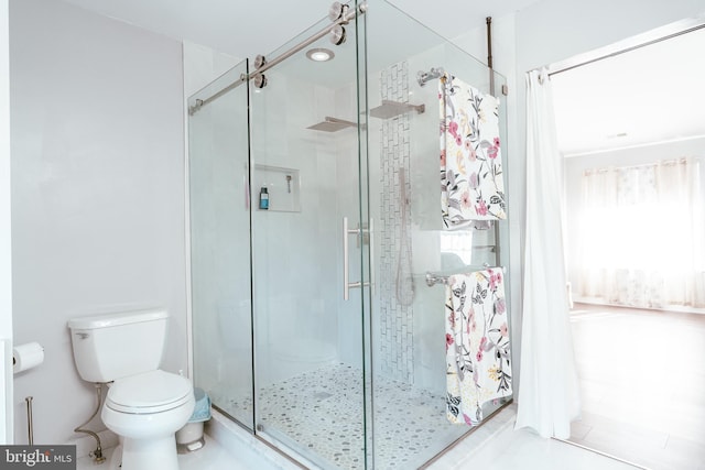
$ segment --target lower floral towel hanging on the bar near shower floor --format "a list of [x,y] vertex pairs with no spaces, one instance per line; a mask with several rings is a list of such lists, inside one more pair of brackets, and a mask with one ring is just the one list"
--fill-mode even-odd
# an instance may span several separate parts
[[447,417],[477,426],[482,404],[512,393],[501,267],[451,276],[446,297]]

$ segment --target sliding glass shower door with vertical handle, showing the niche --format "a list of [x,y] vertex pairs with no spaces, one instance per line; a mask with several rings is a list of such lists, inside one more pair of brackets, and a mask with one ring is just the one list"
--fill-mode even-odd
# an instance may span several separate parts
[[365,468],[360,282],[370,237],[355,23],[346,30],[343,44],[324,36],[265,70],[264,87],[250,80],[251,241],[257,433],[323,468],[352,469]]

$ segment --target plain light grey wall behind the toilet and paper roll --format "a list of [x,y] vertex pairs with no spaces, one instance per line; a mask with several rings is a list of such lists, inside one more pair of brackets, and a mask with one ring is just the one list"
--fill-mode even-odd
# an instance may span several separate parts
[[164,307],[163,368],[186,370],[182,48],[62,2],[10,8],[14,337],[46,356],[15,376],[15,433],[33,395],[35,442],[61,444],[95,407],[67,319]]

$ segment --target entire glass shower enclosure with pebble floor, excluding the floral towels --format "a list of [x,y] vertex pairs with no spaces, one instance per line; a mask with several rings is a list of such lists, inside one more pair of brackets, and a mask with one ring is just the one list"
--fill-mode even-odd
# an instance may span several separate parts
[[490,72],[386,1],[344,14],[189,98],[194,379],[308,467],[419,468],[473,429],[445,416],[426,273],[508,260],[506,221],[443,229],[433,72]]

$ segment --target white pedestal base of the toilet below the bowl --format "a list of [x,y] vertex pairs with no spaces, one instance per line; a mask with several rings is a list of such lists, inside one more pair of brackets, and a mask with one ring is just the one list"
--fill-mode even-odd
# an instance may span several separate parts
[[110,460],[110,470],[178,470],[174,435],[158,439],[122,438]]

